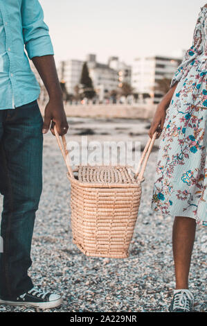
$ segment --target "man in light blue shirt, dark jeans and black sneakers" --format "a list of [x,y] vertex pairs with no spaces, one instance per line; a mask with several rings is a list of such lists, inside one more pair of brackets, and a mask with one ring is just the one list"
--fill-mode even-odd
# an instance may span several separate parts
[[[68,130],[53,46],[38,0],[0,0],[0,191],[3,195],[0,304],[57,307],[60,295],[28,277],[35,212],[42,192],[42,133]],[[44,123],[33,60],[49,95]]]

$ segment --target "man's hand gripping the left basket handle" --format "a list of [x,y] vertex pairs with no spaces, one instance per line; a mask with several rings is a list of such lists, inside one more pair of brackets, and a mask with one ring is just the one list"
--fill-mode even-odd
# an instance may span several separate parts
[[46,134],[50,126],[53,135],[55,135],[54,126],[57,127],[57,132],[61,136],[66,134],[69,129],[61,99],[58,101],[55,99],[50,99],[46,105],[44,111],[44,125],[42,127],[42,133]]

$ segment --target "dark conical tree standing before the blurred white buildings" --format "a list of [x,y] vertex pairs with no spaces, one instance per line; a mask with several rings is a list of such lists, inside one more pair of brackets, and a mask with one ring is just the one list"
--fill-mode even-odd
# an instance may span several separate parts
[[80,84],[82,85],[82,95],[89,99],[93,98],[96,95],[96,92],[93,89],[93,82],[89,76],[89,69],[87,62],[84,62],[82,66],[82,74],[80,78]]

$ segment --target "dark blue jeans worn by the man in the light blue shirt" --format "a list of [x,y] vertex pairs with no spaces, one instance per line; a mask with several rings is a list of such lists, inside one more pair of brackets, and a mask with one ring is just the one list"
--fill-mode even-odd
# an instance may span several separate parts
[[0,298],[33,288],[28,277],[35,212],[42,192],[42,115],[37,101],[0,110],[0,192],[3,195]]

